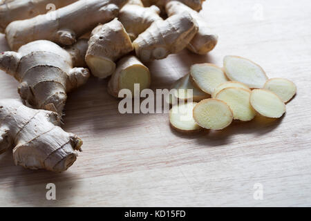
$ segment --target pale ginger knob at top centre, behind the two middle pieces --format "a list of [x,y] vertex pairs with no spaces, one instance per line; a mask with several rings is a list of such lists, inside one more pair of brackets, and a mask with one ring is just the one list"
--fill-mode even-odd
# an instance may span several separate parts
[[157,6],[144,8],[138,5],[127,3],[121,10],[118,19],[123,24],[131,40],[135,40],[140,33],[151,26],[151,23],[162,20],[159,16],[160,9]]

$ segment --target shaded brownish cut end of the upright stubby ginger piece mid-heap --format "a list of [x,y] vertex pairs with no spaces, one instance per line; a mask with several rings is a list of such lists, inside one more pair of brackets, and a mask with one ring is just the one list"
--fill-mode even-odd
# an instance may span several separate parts
[[86,64],[91,69],[91,73],[99,78],[106,78],[112,75],[116,66],[111,59],[93,55],[86,56]]

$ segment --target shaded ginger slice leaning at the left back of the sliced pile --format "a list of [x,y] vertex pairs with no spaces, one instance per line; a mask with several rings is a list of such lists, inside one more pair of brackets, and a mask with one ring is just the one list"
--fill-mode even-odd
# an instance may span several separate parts
[[200,102],[200,100],[209,97],[207,93],[204,93],[200,88],[198,88],[198,86],[196,86],[196,84],[194,84],[194,82],[190,80],[190,74],[178,79],[171,86],[171,89],[176,89],[174,90],[174,96],[176,99],[187,100],[192,98],[194,102]]

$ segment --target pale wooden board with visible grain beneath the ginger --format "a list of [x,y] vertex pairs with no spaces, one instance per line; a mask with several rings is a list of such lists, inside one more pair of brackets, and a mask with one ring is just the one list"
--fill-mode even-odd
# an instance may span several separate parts
[[[120,115],[107,81],[91,78],[71,93],[64,128],[84,140],[65,173],[15,166],[0,156],[1,206],[311,206],[311,3],[308,0],[209,0],[202,15],[219,34],[206,56],[187,50],[148,64],[152,88],[169,88],[191,64],[222,66],[247,57],[269,77],[285,77],[298,93],[279,120],[256,117],[224,131],[184,135],[167,114]],[[7,50],[3,35],[0,51]],[[0,73],[0,98],[17,82]],[[46,184],[57,200],[46,200]],[[263,200],[254,200],[254,184]]]

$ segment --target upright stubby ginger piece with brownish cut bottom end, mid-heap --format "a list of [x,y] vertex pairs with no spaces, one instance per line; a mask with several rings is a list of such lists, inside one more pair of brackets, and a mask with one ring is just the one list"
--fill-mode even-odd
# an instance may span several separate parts
[[88,41],[86,64],[91,73],[100,78],[115,71],[115,60],[131,52],[133,45],[129,35],[117,19],[97,26]]

